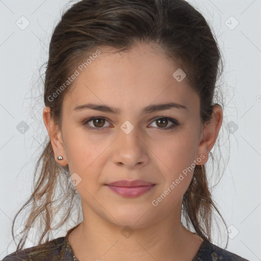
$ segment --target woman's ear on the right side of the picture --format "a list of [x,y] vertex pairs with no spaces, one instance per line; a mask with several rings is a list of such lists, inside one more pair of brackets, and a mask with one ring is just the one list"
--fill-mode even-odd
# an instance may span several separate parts
[[208,160],[208,153],[212,150],[218,138],[219,130],[223,121],[223,111],[220,105],[213,106],[213,114],[209,123],[204,123],[201,141],[198,146],[197,156],[204,154],[205,157],[200,162],[203,165]]

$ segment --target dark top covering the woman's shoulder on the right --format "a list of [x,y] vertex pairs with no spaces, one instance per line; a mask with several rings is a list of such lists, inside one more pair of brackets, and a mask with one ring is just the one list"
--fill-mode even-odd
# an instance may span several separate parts
[[220,248],[210,242],[203,241],[193,261],[249,261],[237,254],[229,252],[223,248]]

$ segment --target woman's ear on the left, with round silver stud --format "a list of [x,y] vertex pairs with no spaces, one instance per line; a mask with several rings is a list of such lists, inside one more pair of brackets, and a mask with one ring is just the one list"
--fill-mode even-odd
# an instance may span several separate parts
[[[68,164],[64,149],[64,143],[62,139],[62,133],[60,126],[55,124],[50,115],[50,107],[45,107],[43,109],[43,121],[44,125],[49,134],[49,138],[51,141],[51,146],[53,147],[55,160],[61,166],[66,166]],[[59,161],[58,156],[63,156],[63,160]]]

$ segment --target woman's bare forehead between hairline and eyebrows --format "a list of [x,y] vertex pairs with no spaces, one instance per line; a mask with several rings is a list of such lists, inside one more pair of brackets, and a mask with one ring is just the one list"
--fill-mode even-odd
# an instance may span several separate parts
[[99,50],[100,54],[89,59],[86,68],[79,64],[83,69],[77,68],[79,75],[63,101],[68,110],[87,101],[126,110],[171,101],[194,109],[199,107],[198,95],[186,77],[181,82],[173,77],[179,68],[159,49],[139,44],[121,53]]

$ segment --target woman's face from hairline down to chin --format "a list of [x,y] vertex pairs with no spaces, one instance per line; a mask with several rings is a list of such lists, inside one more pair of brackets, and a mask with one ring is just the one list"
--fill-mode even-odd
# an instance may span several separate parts
[[[79,70],[63,100],[61,144],[54,151],[74,173],[84,215],[138,228],[180,212],[207,146],[198,94],[186,77],[173,77],[177,69],[159,50],[140,44],[120,54],[101,50]],[[83,107],[87,103],[94,106]],[[153,186],[118,187],[123,194],[107,186],[137,179]]]

